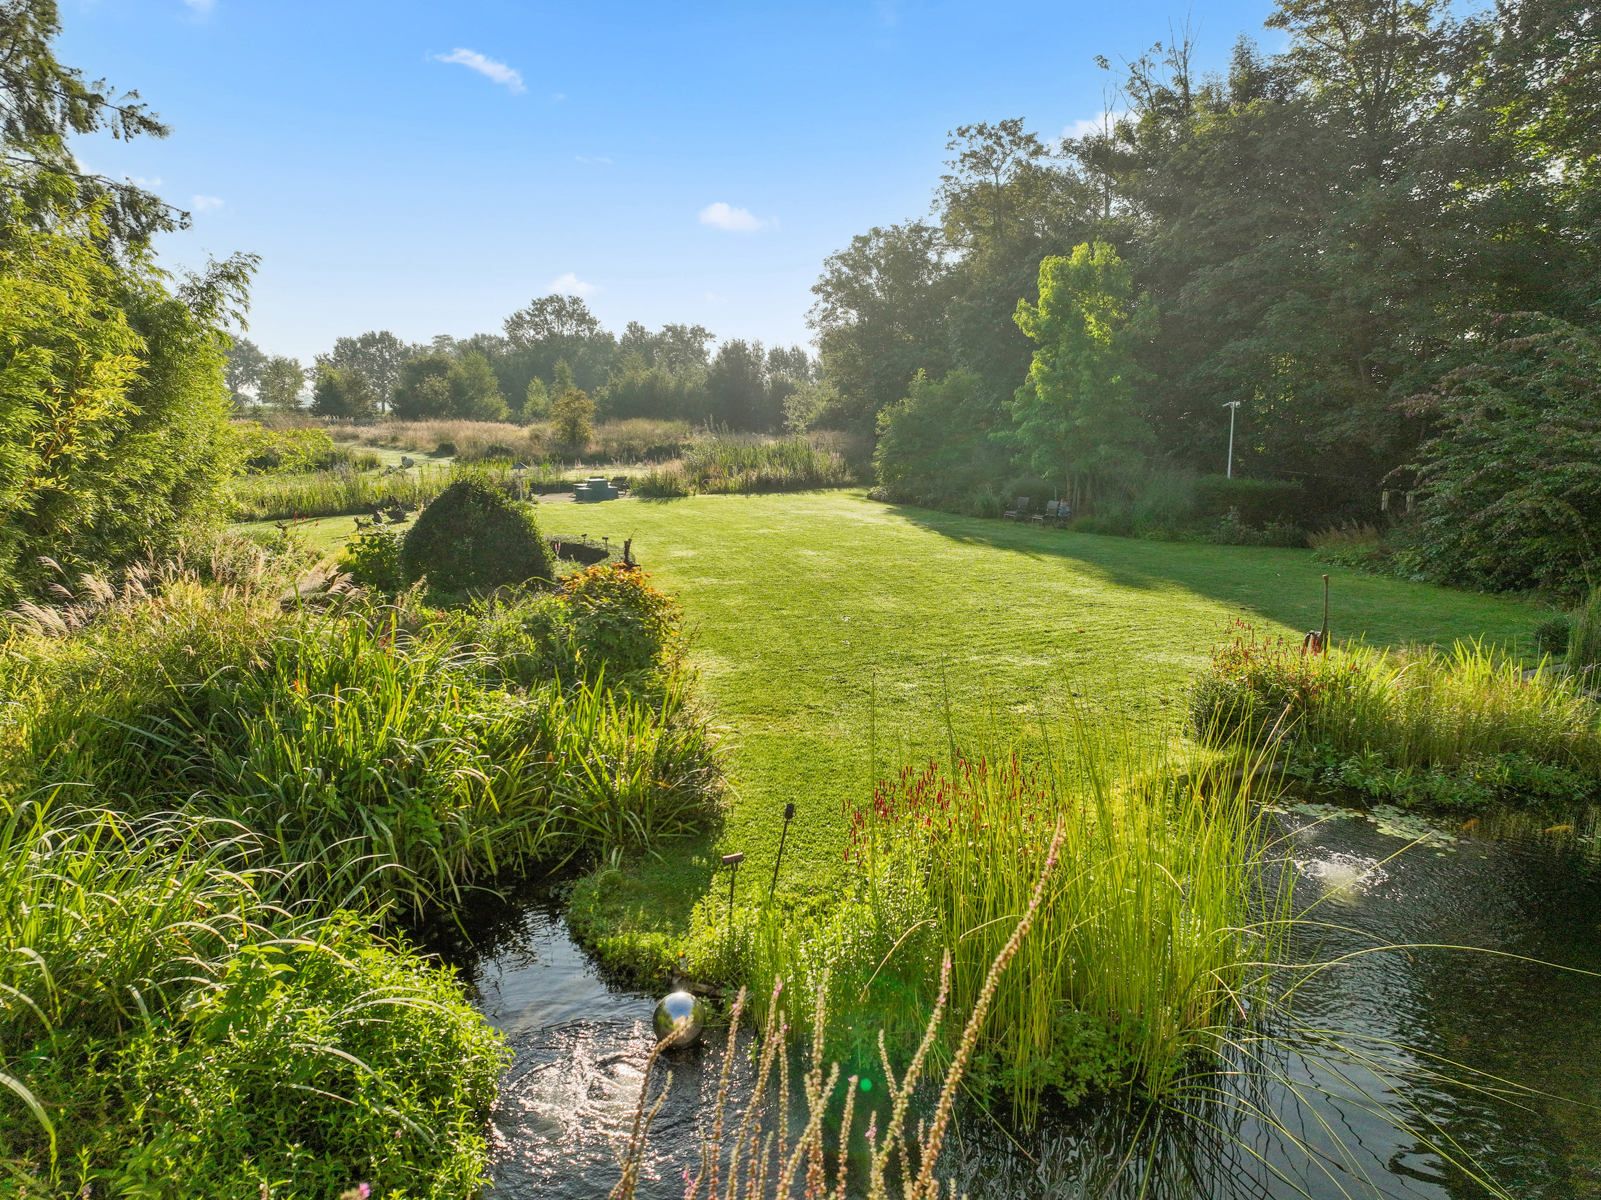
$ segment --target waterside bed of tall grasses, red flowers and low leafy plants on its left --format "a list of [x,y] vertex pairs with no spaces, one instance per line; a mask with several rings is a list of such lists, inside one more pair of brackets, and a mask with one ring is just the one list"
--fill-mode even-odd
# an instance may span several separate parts
[[917,1045],[945,955],[954,1010],[973,1006],[1060,826],[1061,869],[993,997],[969,1088],[1021,1123],[1047,1099],[1127,1085],[1164,1098],[1223,1058],[1287,930],[1260,787],[1215,754],[1087,731],[1028,758],[906,768],[849,811],[852,875],[826,910],[767,906],[730,925],[709,904],[701,944],[757,995],[775,979],[825,989],[852,1018],[836,1053],[871,1069],[877,1030],[897,1054]]

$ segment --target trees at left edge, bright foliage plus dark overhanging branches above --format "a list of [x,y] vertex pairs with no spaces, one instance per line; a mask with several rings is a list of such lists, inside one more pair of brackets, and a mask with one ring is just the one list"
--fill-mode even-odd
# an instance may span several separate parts
[[178,277],[187,214],[86,173],[72,134],[165,136],[133,93],[61,64],[53,0],[0,5],[0,605],[170,549],[232,470],[226,325],[250,256]]

